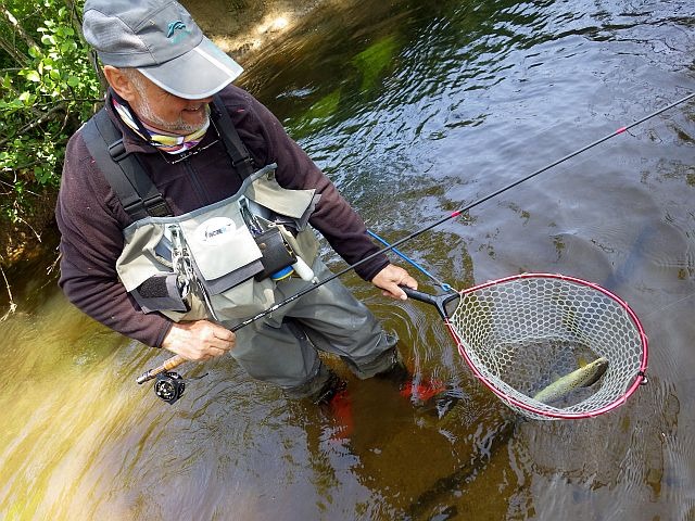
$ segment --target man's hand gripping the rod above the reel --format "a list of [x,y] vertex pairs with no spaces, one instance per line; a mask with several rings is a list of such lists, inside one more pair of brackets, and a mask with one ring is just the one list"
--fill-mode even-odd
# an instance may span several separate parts
[[236,335],[228,329],[207,320],[178,322],[164,336],[162,347],[187,360],[205,361],[233,348]]

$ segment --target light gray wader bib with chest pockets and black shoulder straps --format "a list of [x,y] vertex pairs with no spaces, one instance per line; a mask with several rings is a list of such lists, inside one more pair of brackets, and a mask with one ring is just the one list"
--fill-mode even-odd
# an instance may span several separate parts
[[277,280],[293,271],[311,278],[303,268],[318,251],[307,221],[319,195],[280,187],[274,164],[254,171],[217,97],[211,112],[242,185],[230,198],[178,216],[137,156],[125,152],[104,110],[83,129],[92,157],[135,219],[124,230],[118,277],[144,313],[175,321],[261,313],[275,304]]

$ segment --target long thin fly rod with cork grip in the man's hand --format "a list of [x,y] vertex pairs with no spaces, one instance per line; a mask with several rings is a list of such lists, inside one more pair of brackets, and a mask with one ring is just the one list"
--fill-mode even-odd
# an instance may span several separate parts
[[[358,262],[356,262],[354,264],[351,264],[346,268],[343,268],[342,270],[331,275],[330,277],[327,277],[326,279],[324,279],[321,281],[315,282],[314,284],[312,284],[312,285],[299,291],[294,295],[287,297],[285,301],[279,302],[277,304],[270,306],[265,312],[262,312],[262,313],[260,313],[260,314],[257,314],[257,315],[255,315],[255,316],[253,316],[251,318],[248,318],[248,319],[243,320],[242,322],[240,322],[237,326],[232,327],[230,329],[230,331],[231,332],[238,331],[239,329],[241,329],[241,328],[243,328],[245,326],[249,326],[252,322],[255,322],[256,320],[258,320],[258,319],[271,314],[273,312],[275,312],[275,310],[277,310],[277,309],[281,308],[281,307],[285,307],[288,304],[294,302],[296,298],[300,298],[300,297],[304,296],[305,294],[309,293],[311,291],[314,291],[315,289],[317,289],[317,288],[330,282],[331,280],[337,279],[338,277],[341,277],[341,276],[345,275],[349,271],[352,271],[356,267],[362,266],[364,263],[367,263],[368,260],[371,260],[376,256],[392,251],[393,249],[400,246],[401,244],[403,244],[403,243],[405,243],[405,242],[407,242],[407,241],[409,241],[412,239],[415,239],[416,237],[421,236],[426,231],[429,231],[429,230],[431,230],[431,229],[433,229],[433,228],[435,228],[435,227],[438,227],[440,225],[443,225],[444,223],[446,223],[446,221],[448,221],[451,219],[454,219],[454,218],[465,214],[466,212],[470,211],[471,208],[475,208],[476,206],[479,206],[480,204],[482,204],[482,203],[484,203],[486,201],[490,201],[491,199],[496,198],[497,195],[500,195],[500,194],[502,194],[502,193],[504,193],[504,192],[506,192],[508,190],[511,190],[513,188],[521,185],[522,182],[526,182],[529,179],[532,179],[532,178],[536,177],[538,175],[543,174],[544,171],[549,170],[551,168],[553,168],[553,167],[555,167],[555,166],[557,166],[557,165],[559,165],[561,163],[565,163],[566,161],[569,161],[572,157],[576,157],[577,155],[582,154],[582,153],[586,152],[587,150],[593,149],[594,147],[597,147],[598,144],[601,144],[601,143],[603,143],[605,141],[608,141],[609,139],[612,139],[612,138],[615,138],[617,136],[620,136],[621,134],[626,132],[627,130],[630,130],[633,127],[642,125],[643,123],[652,119],[653,117],[658,116],[659,114],[662,114],[662,113],[673,109],[674,106],[680,105],[681,103],[685,103],[686,101],[691,100],[692,98],[695,98],[695,92],[692,92],[692,93],[687,94],[686,97],[681,98],[680,100],[674,101],[673,103],[671,103],[669,105],[666,105],[666,106],[664,106],[664,107],[661,107],[661,109],[659,109],[657,111],[654,111],[653,113],[647,114],[646,116],[644,116],[644,117],[642,117],[642,118],[640,118],[640,119],[637,119],[637,120],[635,120],[635,122],[633,122],[633,123],[631,123],[629,125],[626,125],[624,127],[620,127],[617,130],[604,136],[603,138],[599,138],[597,140],[595,140],[595,141],[582,147],[581,149],[578,149],[574,152],[571,152],[571,153],[560,157],[559,160],[556,160],[556,161],[554,161],[552,163],[548,163],[547,165],[539,168],[538,170],[532,171],[531,174],[529,174],[529,175],[527,175],[527,176],[525,176],[525,177],[522,177],[520,179],[517,179],[516,181],[507,185],[506,187],[500,188],[498,190],[495,190],[494,192],[483,196],[482,199],[479,199],[479,200],[468,204],[467,206],[464,206],[463,208],[457,209],[457,211],[451,213],[450,215],[446,215],[446,216],[442,217],[441,219],[432,223],[431,225],[428,225],[428,226],[426,226],[426,227],[424,227],[424,228],[410,233],[409,236],[406,236],[403,239],[400,239],[400,240],[395,241],[394,243],[382,247],[378,252],[375,252],[371,255],[366,256],[362,260],[358,260]],[[169,369],[173,369],[173,368],[181,365],[185,361],[187,361],[187,359],[184,358],[180,355],[173,356],[173,357],[168,358],[166,361],[164,361],[164,364],[162,364],[161,366],[157,366],[154,369],[150,369],[150,370],[143,372],[140,377],[138,377],[138,379],[136,381],[139,384],[140,383],[144,383],[148,380],[152,380],[154,377],[156,377],[161,372],[168,371]]]

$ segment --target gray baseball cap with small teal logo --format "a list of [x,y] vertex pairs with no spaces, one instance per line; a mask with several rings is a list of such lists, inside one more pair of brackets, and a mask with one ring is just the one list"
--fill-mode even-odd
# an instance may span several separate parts
[[83,31],[104,65],[135,67],[179,98],[207,98],[243,72],[173,0],[87,0]]

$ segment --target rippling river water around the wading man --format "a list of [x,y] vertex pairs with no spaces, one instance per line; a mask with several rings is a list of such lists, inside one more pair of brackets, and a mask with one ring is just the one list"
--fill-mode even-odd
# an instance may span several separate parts
[[[239,84],[390,241],[695,90],[690,0],[321,13]],[[350,380],[349,441],[229,358],[182,368],[208,374],[169,406],[135,384],[163,354],[67,304],[52,258],[27,263],[10,274],[17,313],[0,322],[0,518],[695,520],[694,198],[690,102],[402,247],[455,288],[546,271],[624,298],[649,338],[649,381],[591,420],[509,420],[431,306],[353,275],[416,380],[460,390],[446,416],[332,359]]]

